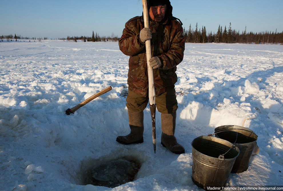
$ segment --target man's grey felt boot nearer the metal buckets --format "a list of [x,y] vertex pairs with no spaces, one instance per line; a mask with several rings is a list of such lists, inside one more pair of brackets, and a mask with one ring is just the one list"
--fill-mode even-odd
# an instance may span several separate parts
[[176,112],[161,113],[161,144],[168,148],[172,153],[182,154],[185,153],[185,149],[176,141],[176,137],[174,136],[175,127]]

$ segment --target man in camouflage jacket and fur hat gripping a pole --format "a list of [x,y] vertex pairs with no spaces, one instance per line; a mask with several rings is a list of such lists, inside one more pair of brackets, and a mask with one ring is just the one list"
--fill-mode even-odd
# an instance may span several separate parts
[[150,28],[144,28],[143,16],[130,19],[125,24],[119,40],[120,50],[130,56],[127,108],[131,133],[117,137],[125,145],[142,143],[144,131],[143,110],[148,104],[148,71],[146,40],[151,39],[156,107],[161,113],[161,143],[171,152],[181,154],[184,147],[174,136],[178,108],[174,84],[177,82],[176,66],[182,62],[185,49],[182,23],[172,16],[169,0],[149,0]]

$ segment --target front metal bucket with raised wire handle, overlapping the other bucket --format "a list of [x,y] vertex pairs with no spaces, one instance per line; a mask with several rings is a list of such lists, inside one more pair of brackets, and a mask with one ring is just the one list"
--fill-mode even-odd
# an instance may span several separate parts
[[[224,139],[200,136],[192,141],[192,180],[194,184],[210,190],[225,187],[240,150]],[[221,155],[224,157],[220,157]]]

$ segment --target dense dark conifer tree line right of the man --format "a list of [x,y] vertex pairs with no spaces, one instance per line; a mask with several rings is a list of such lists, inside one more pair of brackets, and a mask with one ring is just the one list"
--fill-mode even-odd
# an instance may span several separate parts
[[229,24],[228,29],[226,26],[224,29],[222,26],[218,26],[217,33],[210,32],[207,34],[206,27],[202,26],[202,28],[198,28],[198,23],[196,23],[196,28],[192,29],[190,25],[189,30],[183,31],[185,42],[192,43],[247,43],[247,44],[281,44],[283,45],[283,31],[275,32],[271,31],[263,31],[259,33],[254,33],[252,31],[247,32],[245,27],[245,31],[236,31],[232,30],[231,23]]

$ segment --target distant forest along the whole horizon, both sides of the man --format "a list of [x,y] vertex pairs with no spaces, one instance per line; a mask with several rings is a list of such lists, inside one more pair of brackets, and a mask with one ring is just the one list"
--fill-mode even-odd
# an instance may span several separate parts
[[[217,33],[207,33],[206,27],[202,26],[202,28],[198,27],[198,23],[196,23],[195,28],[193,29],[190,25],[188,30],[183,31],[185,42],[191,43],[246,43],[246,44],[281,44],[283,45],[283,31],[277,32],[276,31],[262,31],[259,33],[254,33],[252,31],[247,32],[246,28],[245,31],[236,31],[235,29],[232,30],[231,23],[228,27],[222,28],[222,26],[218,26]],[[8,41],[12,39],[32,39],[36,40],[36,38],[29,38],[29,37],[21,37],[21,35],[2,35],[0,39],[7,39]],[[44,40],[48,39],[47,37],[43,38]],[[97,33],[94,34],[92,31],[91,37],[89,36],[67,36],[67,38],[58,38],[59,40],[72,40],[77,42],[77,40],[82,40],[83,42],[106,42],[106,41],[118,41],[120,38],[115,36],[114,33],[111,36],[99,36]],[[37,40],[42,40],[42,38],[37,38]]]

